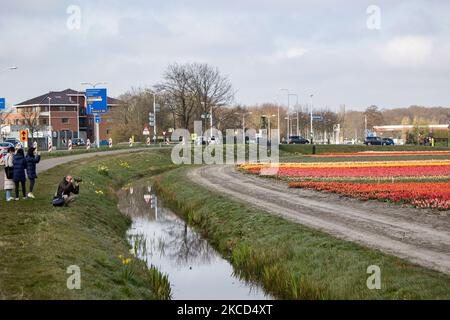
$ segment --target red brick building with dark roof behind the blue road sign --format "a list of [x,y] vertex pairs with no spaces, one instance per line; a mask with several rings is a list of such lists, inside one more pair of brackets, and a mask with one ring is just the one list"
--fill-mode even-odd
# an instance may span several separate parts
[[[39,97],[21,102],[14,107],[16,113],[8,115],[6,125],[29,127],[35,123],[39,131],[53,132],[54,145],[61,140],[82,138],[95,140],[94,116],[86,114],[85,93],[67,89],[52,91]],[[108,110],[120,108],[124,103],[108,97]],[[102,115],[100,141],[110,137],[113,121],[110,114]]]

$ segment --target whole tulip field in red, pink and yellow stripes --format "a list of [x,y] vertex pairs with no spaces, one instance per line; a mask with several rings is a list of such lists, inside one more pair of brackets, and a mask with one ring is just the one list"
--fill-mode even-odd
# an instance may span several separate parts
[[[334,162],[245,164],[240,169],[258,175],[276,175],[291,188],[336,193],[361,200],[380,200],[414,208],[450,209],[450,159],[357,161],[342,155]],[[319,157],[327,157],[321,155]],[[333,154],[336,159],[337,154]],[[364,154],[367,156],[367,154]],[[349,159],[353,161],[349,161]]]

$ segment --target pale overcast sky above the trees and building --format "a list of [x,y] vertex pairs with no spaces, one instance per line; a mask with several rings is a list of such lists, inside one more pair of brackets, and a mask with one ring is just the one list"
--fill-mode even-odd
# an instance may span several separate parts
[[288,88],[332,110],[449,106],[450,1],[0,2],[0,69],[20,68],[0,74],[8,104],[83,81],[117,96],[174,62],[217,66],[236,103],[283,102]]

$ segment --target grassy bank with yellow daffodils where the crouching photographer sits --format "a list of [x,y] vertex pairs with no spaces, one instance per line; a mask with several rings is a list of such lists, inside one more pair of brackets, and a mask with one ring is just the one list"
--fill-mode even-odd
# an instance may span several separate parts
[[[77,161],[41,174],[34,201],[2,196],[0,299],[167,298],[167,278],[131,256],[131,221],[115,198],[123,184],[171,168],[167,158],[168,151],[155,150]],[[53,208],[68,173],[83,178],[81,196],[71,208]],[[81,290],[67,289],[72,265],[80,267]]]

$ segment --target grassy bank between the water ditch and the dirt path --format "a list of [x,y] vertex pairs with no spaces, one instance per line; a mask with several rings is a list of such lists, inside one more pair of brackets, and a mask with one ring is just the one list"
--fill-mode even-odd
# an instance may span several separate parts
[[[286,299],[449,299],[450,278],[402,259],[338,240],[232,201],[191,182],[186,168],[166,172],[155,186],[230,259],[237,272]],[[371,265],[382,289],[367,288]]]

